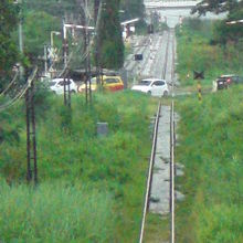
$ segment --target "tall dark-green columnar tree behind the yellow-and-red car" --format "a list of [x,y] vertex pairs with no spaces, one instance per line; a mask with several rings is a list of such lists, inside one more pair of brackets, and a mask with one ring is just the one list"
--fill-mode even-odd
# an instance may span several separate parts
[[102,67],[120,68],[124,64],[124,43],[119,21],[119,0],[106,1],[99,23]]

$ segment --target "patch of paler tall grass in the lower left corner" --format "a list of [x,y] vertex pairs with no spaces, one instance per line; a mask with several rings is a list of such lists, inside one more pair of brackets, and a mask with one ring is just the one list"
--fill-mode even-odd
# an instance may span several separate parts
[[64,183],[0,183],[0,242],[114,242],[113,199]]

